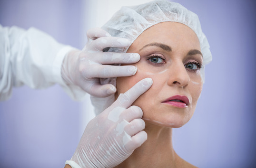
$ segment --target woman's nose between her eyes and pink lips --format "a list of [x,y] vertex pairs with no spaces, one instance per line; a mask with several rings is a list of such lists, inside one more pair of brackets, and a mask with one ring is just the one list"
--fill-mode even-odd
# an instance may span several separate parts
[[187,70],[183,63],[170,65],[169,77],[167,84],[170,86],[186,87],[190,81],[190,76],[187,74]]

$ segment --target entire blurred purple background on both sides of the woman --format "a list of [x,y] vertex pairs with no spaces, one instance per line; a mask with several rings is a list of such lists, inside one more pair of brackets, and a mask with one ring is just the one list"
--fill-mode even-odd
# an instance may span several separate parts
[[[176,0],[197,13],[213,61],[193,118],[173,129],[177,153],[200,168],[256,167],[254,0]],[[0,0],[0,24],[31,26],[85,44],[82,0]],[[58,86],[15,88],[0,103],[0,167],[64,167],[79,142],[81,103]]]

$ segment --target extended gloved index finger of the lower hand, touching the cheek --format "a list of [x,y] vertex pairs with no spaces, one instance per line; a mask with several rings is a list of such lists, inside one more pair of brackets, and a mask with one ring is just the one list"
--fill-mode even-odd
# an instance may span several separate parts
[[123,108],[129,108],[138,97],[145,93],[153,84],[151,78],[145,78],[135,84],[126,93],[120,94],[115,103]]

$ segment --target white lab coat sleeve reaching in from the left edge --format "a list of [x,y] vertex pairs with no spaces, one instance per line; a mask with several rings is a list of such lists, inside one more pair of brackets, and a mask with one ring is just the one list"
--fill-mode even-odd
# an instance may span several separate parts
[[11,96],[12,87],[24,84],[33,89],[60,84],[72,99],[83,100],[85,92],[61,77],[64,56],[73,49],[36,28],[0,25],[0,101]]

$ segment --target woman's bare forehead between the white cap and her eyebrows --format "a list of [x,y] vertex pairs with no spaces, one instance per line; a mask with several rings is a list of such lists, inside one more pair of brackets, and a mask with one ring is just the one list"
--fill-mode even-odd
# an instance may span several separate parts
[[177,22],[162,22],[148,28],[138,36],[130,49],[156,42],[167,44],[172,48],[201,50],[196,33],[186,25]]

